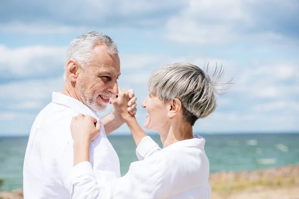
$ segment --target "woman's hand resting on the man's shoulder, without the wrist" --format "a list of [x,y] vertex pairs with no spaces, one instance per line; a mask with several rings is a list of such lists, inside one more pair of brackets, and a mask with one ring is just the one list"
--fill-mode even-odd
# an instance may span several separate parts
[[101,124],[92,116],[79,114],[73,117],[71,122],[71,133],[74,143],[91,142],[101,132]]

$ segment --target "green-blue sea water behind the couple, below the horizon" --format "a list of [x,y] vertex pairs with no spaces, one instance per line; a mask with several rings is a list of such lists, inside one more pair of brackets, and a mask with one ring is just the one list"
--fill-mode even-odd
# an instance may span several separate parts
[[[266,169],[299,162],[299,134],[202,135],[210,172]],[[151,137],[161,145],[158,135]],[[22,187],[22,166],[27,137],[0,137],[0,178],[2,191]],[[137,161],[131,136],[112,135],[109,140],[126,174],[130,163]]]

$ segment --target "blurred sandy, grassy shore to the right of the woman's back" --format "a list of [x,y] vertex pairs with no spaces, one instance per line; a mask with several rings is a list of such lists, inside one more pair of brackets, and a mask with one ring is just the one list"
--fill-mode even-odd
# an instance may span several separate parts
[[299,163],[210,175],[211,199],[299,199]]

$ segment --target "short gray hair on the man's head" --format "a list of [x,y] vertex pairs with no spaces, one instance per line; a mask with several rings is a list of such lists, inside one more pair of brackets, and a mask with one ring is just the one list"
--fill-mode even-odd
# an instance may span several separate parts
[[84,69],[94,61],[94,48],[106,45],[109,54],[118,54],[116,43],[107,35],[90,31],[73,39],[66,51],[64,63],[64,80],[66,79],[66,67],[69,60],[75,60]]

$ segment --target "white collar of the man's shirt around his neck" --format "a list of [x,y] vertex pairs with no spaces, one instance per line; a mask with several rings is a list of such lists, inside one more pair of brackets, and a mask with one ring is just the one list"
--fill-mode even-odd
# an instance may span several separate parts
[[72,108],[74,111],[79,113],[82,113],[84,115],[90,115],[93,116],[95,118],[100,119],[100,116],[98,113],[96,113],[95,111],[93,111],[92,109],[90,109],[88,106],[86,106],[84,103],[82,103],[79,100],[76,100],[72,97],[66,96],[62,93],[55,93],[53,92],[52,94],[52,102],[53,103],[57,103],[57,104],[61,104],[67,107]]

